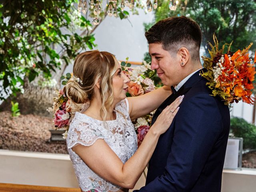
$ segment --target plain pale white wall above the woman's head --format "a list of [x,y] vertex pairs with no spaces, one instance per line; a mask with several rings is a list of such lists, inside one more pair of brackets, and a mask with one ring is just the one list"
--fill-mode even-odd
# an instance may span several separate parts
[[[143,23],[152,22],[154,14],[138,11],[139,15],[130,13],[128,19],[123,20],[107,16],[94,31],[97,49],[114,54],[118,60],[129,57],[129,61],[142,61],[144,53],[148,52]],[[70,64],[64,74],[72,72],[72,68]]]

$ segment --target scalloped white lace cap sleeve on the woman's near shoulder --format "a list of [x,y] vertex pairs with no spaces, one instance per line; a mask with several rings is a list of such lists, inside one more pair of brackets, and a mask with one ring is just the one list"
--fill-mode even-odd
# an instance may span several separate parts
[[72,148],[76,144],[91,146],[97,139],[104,139],[102,132],[92,124],[85,122],[73,123],[68,131],[67,147]]

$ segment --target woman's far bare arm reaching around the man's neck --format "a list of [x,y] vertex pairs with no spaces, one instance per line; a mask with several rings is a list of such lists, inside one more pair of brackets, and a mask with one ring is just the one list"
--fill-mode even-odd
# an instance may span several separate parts
[[172,94],[170,87],[163,86],[141,96],[128,97],[131,120],[154,111],[170,94]]

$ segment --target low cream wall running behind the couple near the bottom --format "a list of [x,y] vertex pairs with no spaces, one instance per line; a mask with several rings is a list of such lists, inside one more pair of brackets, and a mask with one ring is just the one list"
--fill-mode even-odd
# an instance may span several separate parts
[[[142,174],[134,189],[145,181]],[[252,192],[255,181],[253,169],[224,170],[222,192]],[[0,150],[0,183],[78,188],[69,155],[9,150]]]

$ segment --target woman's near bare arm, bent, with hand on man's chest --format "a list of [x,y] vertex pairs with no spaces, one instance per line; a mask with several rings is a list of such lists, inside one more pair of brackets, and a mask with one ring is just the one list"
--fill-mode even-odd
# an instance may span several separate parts
[[[91,146],[79,144],[74,146],[72,150],[100,177],[123,188],[132,189],[148,164],[160,134],[169,128],[178,112],[181,101],[182,99],[178,98],[163,110],[146,134],[140,148],[125,164],[103,139],[96,140]],[[172,113],[170,110],[174,112]]]

